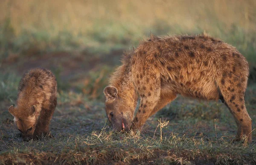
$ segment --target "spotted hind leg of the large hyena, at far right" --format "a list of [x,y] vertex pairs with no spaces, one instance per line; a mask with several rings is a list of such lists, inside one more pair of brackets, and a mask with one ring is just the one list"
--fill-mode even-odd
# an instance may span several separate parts
[[244,93],[247,81],[237,81],[236,83],[229,82],[222,79],[219,89],[224,98],[225,104],[230,109],[231,114],[236,120],[238,130],[235,140],[239,141],[241,136],[245,134],[248,138],[248,142],[252,142],[252,120],[249,117],[244,104]]

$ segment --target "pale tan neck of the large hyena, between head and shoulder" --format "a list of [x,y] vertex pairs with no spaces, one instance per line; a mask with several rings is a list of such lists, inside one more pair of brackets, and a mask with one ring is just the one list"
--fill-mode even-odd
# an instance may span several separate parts
[[121,65],[111,77],[111,86],[118,90],[118,96],[125,100],[128,105],[136,108],[138,94],[131,80],[131,72],[127,65]]

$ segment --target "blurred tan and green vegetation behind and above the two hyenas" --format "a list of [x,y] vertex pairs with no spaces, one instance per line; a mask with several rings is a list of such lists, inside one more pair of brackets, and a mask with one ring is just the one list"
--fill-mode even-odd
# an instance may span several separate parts
[[255,0],[1,0],[1,99],[14,99],[8,80],[33,67],[51,69],[60,91],[102,98],[122,52],[150,32],[221,38],[247,58],[256,82],[255,9]]

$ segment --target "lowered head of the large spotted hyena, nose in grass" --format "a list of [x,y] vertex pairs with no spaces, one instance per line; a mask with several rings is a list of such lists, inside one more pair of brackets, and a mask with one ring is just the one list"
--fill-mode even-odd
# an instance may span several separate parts
[[106,114],[116,131],[130,131],[136,104],[129,99],[121,98],[113,86],[104,89],[106,96]]

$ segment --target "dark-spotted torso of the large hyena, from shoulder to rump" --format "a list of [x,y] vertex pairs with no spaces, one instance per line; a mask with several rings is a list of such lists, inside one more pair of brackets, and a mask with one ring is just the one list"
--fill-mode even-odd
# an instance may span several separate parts
[[230,100],[231,92],[244,95],[249,73],[236,48],[207,35],[152,36],[131,57],[131,71],[141,95],[151,93],[143,88],[157,79],[162,94],[172,91],[206,100],[217,100],[224,93]]

